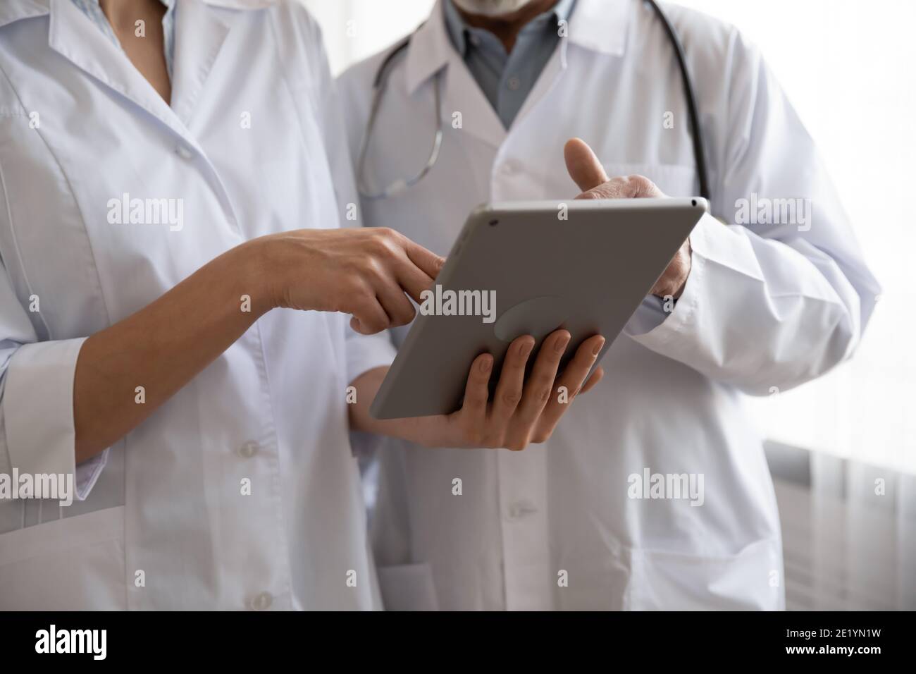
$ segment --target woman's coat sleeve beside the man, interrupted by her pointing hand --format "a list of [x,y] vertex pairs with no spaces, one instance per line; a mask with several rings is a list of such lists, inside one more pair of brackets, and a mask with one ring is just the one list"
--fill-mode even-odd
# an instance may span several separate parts
[[[337,83],[333,81],[327,54],[323,47],[321,28],[309,20],[311,31],[309,43],[316,52],[312,62],[315,64],[315,79],[318,83],[316,101],[319,107],[319,118],[325,152],[331,166],[337,209],[340,214],[341,227],[362,227],[359,196],[354,182],[353,166],[350,161],[350,150],[344,127],[344,113],[340,105]],[[365,336],[355,332],[345,321],[347,381],[353,382],[361,374],[378,367],[387,367],[395,359],[396,351],[387,332]],[[358,395],[358,392],[357,392]]]

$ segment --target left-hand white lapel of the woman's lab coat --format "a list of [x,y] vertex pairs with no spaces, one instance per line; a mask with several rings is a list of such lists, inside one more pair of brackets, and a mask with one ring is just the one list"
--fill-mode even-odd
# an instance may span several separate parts
[[71,0],[50,0],[49,47],[183,135],[169,104]]

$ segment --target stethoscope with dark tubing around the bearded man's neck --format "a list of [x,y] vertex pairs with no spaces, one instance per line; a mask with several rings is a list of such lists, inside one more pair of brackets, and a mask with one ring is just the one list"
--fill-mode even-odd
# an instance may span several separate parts
[[[687,70],[687,62],[684,59],[684,48],[681,43],[681,39],[678,37],[674,27],[671,26],[671,21],[668,20],[667,16],[665,16],[664,11],[661,9],[656,0],[643,0],[643,2],[648,3],[649,6],[655,10],[655,13],[658,15],[662,26],[665,28],[665,32],[668,34],[668,38],[671,41],[671,46],[674,48],[674,53],[677,56],[678,66],[681,68],[681,79],[684,85],[684,95],[687,98],[687,111],[690,116],[693,158],[696,161],[696,172],[700,179],[700,196],[705,199],[709,199],[709,178],[706,173],[706,158],[703,154],[703,131],[700,128],[700,116],[696,110],[696,97],[693,95],[693,83],[691,80],[690,72]],[[378,70],[376,71],[376,78],[372,83],[372,107],[369,111],[369,121],[366,123],[365,135],[363,136],[363,144],[359,150],[359,160],[357,160],[356,164],[357,186],[359,193],[362,194],[366,199],[387,199],[404,192],[409,187],[412,187],[413,185],[423,180],[423,177],[431,171],[432,167],[436,165],[436,161],[439,160],[439,152],[442,149],[443,133],[442,83],[440,82],[441,72],[437,73],[435,76],[435,107],[433,108],[433,112],[436,116],[436,135],[432,140],[430,159],[426,160],[426,165],[412,178],[401,179],[392,182],[381,192],[371,192],[365,185],[365,154],[369,147],[369,139],[372,138],[372,130],[376,126],[376,116],[378,115],[379,106],[382,103],[382,97],[385,94],[388,75],[391,72],[391,64],[394,62],[399,53],[408,48],[410,44],[410,38],[412,37],[412,35],[409,35],[406,39],[401,41],[398,46],[394,48],[394,50],[391,50],[385,60],[382,61],[381,65],[378,66]]]

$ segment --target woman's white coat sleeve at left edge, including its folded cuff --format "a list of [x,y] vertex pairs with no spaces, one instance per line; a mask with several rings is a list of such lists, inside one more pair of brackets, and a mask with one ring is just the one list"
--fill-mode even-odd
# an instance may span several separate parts
[[38,341],[0,265],[0,472],[72,474],[80,501],[108,455],[76,465],[73,374],[84,340]]

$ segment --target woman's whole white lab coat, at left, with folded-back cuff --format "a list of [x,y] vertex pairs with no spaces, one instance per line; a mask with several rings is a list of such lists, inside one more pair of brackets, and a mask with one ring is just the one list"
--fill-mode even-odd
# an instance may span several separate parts
[[[0,5],[0,472],[74,470],[85,337],[354,201],[318,28],[241,5],[180,2],[170,107],[71,0]],[[181,199],[183,227],[111,224],[125,193]],[[82,501],[0,503],[0,608],[375,607],[345,389],[393,349],[347,331],[271,312],[77,467]]]

